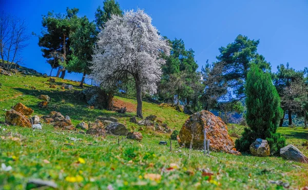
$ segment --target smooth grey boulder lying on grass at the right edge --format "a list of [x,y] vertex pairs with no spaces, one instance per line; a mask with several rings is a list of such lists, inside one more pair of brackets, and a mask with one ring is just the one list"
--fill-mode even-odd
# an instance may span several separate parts
[[287,145],[280,149],[280,155],[287,160],[308,163],[308,158],[293,145]]

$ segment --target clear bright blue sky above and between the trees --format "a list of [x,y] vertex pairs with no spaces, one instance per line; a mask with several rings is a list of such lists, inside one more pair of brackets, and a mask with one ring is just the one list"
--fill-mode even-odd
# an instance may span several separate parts
[[[42,16],[48,11],[65,13],[66,7],[80,9],[79,16],[94,19],[99,1],[0,0],[1,9],[25,18],[29,32],[40,34]],[[186,49],[195,51],[199,69],[216,61],[218,48],[233,42],[238,34],[260,39],[258,52],[272,64],[276,72],[279,64],[289,62],[295,69],[308,66],[308,1],[307,0],[138,0],[118,1],[122,10],[141,8],[151,17],[162,35],[170,39],[182,38]],[[32,37],[23,52],[25,66],[41,73],[50,73],[50,65],[42,57],[37,37]],[[66,78],[81,80],[77,74]]]

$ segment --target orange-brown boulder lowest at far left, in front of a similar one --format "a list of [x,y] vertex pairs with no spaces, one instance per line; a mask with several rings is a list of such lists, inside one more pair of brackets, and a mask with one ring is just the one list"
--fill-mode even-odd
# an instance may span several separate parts
[[9,125],[17,125],[21,127],[31,127],[31,123],[27,117],[16,110],[9,110],[5,114],[5,123]]

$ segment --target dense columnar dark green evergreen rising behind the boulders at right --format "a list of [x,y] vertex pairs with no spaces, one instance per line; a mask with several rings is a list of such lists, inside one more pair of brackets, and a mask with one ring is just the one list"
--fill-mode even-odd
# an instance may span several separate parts
[[268,141],[271,153],[277,154],[285,146],[285,139],[276,133],[282,109],[271,76],[253,64],[247,74],[245,93],[249,129],[245,129],[243,136],[236,141],[236,148],[248,151],[257,138],[262,138]]

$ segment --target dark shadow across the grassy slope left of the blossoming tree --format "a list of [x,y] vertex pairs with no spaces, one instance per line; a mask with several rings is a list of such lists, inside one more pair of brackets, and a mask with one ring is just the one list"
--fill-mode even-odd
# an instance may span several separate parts
[[[63,115],[69,115],[73,120],[79,121],[95,121],[98,116],[115,116],[115,117],[130,117],[132,114],[122,114],[118,112],[108,111],[105,109],[89,109],[85,101],[80,100],[78,95],[74,93],[76,90],[31,90],[24,88],[14,88],[25,95],[33,97],[40,96],[40,94],[48,95],[51,101],[47,108],[39,108],[37,103],[42,100],[37,99],[36,103],[29,106],[36,114],[47,115],[51,111],[61,112]],[[32,101],[33,102],[33,101]]]

